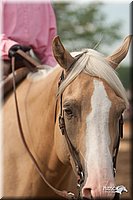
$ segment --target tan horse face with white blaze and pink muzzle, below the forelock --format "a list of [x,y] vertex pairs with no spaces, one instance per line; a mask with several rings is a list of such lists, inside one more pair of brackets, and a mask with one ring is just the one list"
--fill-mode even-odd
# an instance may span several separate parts
[[[63,93],[67,134],[79,151],[84,167],[82,195],[89,198],[112,197],[106,189],[114,187],[112,152],[118,135],[118,120],[125,104],[107,83],[80,74]],[[62,162],[75,166],[65,138],[56,134],[57,154]]]

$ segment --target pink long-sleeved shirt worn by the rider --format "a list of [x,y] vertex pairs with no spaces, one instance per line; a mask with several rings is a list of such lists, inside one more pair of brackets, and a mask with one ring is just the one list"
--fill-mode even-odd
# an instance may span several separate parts
[[56,20],[50,2],[3,3],[3,34],[1,53],[8,59],[9,48],[16,43],[31,46],[42,64],[55,66],[52,39],[56,35]]

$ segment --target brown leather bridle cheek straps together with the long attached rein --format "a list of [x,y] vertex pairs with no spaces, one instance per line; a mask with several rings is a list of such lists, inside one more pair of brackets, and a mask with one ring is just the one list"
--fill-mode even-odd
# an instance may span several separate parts
[[[20,51],[20,50],[19,50]],[[15,97],[15,105],[16,105],[16,114],[17,114],[17,121],[18,121],[18,125],[19,125],[19,131],[20,131],[20,136],[22,139],[22,142],[26,148],[26,151],[28,152],[33,164],[35,165],[35,168],[37,170],[37,172],[39,173],[40,177],[42,178],[42,180],[44,181],[44,183],[51,188],[57,195],[66,198],[66,199],[74,199],[74,200],[80,200],[82,199],[80,196],[80,190],[81,190],[81,185],[84,182],[84,171],[83,171],[83,167],[80,161],[80,157],[79,157],[79,152],[76,150],[76,148],[73,146],[67,130],[66,130],[66,125],[65,125],[65,118],[64,118],[64,111],[63,111],[63,105],[62,105],[62,94],[60,95],[60,115],[58,117],[59,120],[59,127],[61,130],[62,135],[65,137],[67,145],[68,145],[68,149],[70,151],[70,154],[72,156],[73,162],[75,164],[75,168],[76,168],[76,172],[77,172],[77,189],[78,189],[78,196],[76,196],[75,194],[73,194],[72,192],[67,192],[67,191],[60,191],[56,188],[54,188],[44,177],[43,172],[41,170],[41,168],[39,167],[36,159],[34,158],[33,154],[31,153],[27,142],[25,140],[25,136],[23,133],[23,128],[22,128],[22,123],[21,123],[21,117],[20,117],[20,113],[19,113],[19,108],[18,108],[18,100],[17,100],[17,94],[16,94],[16,85],[15,85],[15,57],[12,58],[12,73],[13,73],[13,91],[14,91],[14,97]],[[34,69],[32,69],[32,72],[34,72]],[[35,69],[36,72],[36,69]],[[64,77],[64,71],[62,71],[62,74],[60,76],[60,81],[58,84],[58,87],[60,86],[60,84],[64,81],[65,77]],[[123,137],[123,120],[122,120],[122,116],[121,119],[119,121],[119,136],[118,136],[118,142],[114,147],[114,153],[113,153],[113,168],[114,168],[114,175],[116,172],[116,160],[117,160],[117,154],[118,154],[118,150],[119,150],[119,144],[120,144],[120,138]],[[117,195],[119,198],[119,195]]]

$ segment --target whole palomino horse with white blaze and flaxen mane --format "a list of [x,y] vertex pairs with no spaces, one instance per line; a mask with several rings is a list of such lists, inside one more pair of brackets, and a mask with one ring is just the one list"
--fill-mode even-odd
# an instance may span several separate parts
[[[115,193],[108,189],[115,187],[112,157],[118,122],[128,105],[114,69],[125,58],[130,42],[128,36],[120,48],[105,57],[92,49],[70,54],[57,36],[53,52],[59,65],[49,72],[29,74],[18,86],[25,140],[54,188],[77,194],[77,167],[82,197],[114,198]],[[59,198],[58,192],[40,178],[28,155],[13,95],[3,107],[3,196]],[[60,114],[64,124],[59,124]]]

